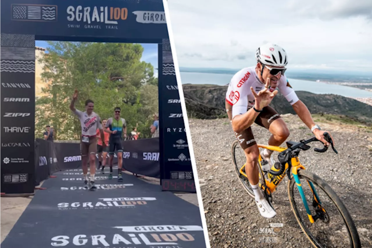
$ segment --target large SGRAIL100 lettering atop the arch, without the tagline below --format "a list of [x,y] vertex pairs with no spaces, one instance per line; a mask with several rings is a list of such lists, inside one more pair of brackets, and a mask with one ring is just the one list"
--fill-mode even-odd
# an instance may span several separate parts
[[126,18],[128,17],[127,8],[108,6],[68,6],[66,12],[68,14],[67,20],[69,20],[70,22],[77,21],[87,24],[118,24],[118,20],[126,20]]

